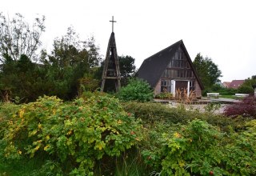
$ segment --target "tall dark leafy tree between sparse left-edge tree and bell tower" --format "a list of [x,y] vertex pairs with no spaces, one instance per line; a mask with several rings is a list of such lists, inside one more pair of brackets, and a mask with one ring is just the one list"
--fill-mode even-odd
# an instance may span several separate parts
[[88,73],[101,61],[98,50],[93,37],[81,41],[73,27],[69,27],[62,38],[56,38],[54,50],[48,58],[43,58],[49,68],[46,80],[50,85],[50,94],[63,99],[78,95],[79,86],[88,82],[88,79],[82,78],[88,77]]

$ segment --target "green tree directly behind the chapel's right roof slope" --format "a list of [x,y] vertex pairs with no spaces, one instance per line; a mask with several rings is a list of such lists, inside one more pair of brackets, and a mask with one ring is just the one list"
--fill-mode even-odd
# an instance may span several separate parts
[[211,58],[203,58],[202,55],[198,53],[194,58],[193,65],[206,89],[211,88],[214,83],[220,81],[219,78],[222,77],[222,71],[218,69],[218,66]]

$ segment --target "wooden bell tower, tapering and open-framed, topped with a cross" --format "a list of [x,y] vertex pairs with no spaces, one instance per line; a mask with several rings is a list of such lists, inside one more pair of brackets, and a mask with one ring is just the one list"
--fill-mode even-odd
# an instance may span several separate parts
[[121,87],[121,75],[118,63],[117,46],[114,38],[114,22],[116,22],[114,21],[114,17],[112,17],[110,22],[112,22],[112,33],[110,35],[109,44],[106,50],[105,64],[102,73],[101,91],[115,90],[118,92]]

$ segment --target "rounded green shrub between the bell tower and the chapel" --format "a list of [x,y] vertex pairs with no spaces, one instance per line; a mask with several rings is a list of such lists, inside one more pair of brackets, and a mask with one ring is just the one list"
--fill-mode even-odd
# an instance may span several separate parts
[[123,101],[149,102],[154,98],[154,91],[147,82],[130,79],[128,85],[122,87],[117,96]]

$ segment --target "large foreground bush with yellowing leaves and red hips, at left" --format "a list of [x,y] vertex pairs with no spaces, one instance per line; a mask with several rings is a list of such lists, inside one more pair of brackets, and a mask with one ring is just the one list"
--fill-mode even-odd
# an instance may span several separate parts
[[118,156],[140,140],[138,122],[118,99],[102,94],[70,103],[39,98],[9,118],[0,141],[5,157],[48,156],[55,163],[47,165],[52,173],[91,175],[97,160]]

